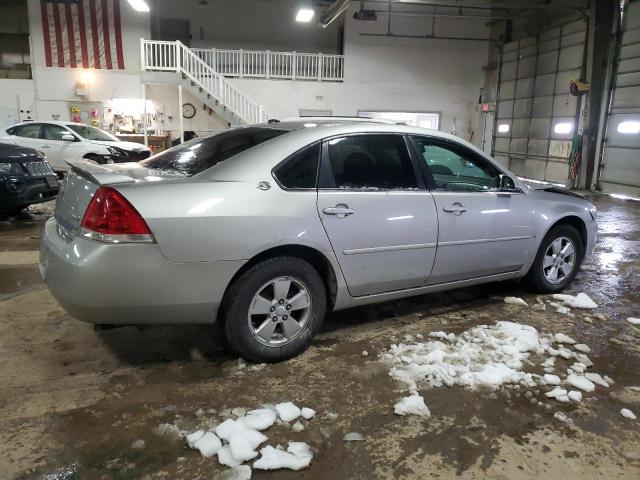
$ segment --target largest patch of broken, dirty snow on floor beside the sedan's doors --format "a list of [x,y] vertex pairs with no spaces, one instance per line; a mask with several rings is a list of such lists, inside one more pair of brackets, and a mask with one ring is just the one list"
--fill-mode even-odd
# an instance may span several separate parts
[[[382,361],[391,364],[389,375],[406,384],[411,393],[394,405],[398,415],[430,415],[419,394],[421,387],[458,385],[470,390],[497,390],[518,385],[528,390],[531,399],[533,390],[541,390],[536,395],[577,403],[582,401],[583,392],[593,392],[596,386],[608,388],[613,383],[609,377],[586,372],[593,365],[586,356],[589,347],[563,333],[539,334],[533,327],[500,321],[459,335],[440,331],[428,337],[422,342],[392,344],[380,354]],[[567,360],[570,366],[557,365],[558,358]],[[538,368],[544,373],[537,373]]]

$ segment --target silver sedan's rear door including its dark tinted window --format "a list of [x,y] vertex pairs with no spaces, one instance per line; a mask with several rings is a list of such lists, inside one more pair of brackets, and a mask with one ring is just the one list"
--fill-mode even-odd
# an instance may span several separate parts
[[433,198],[401,134],[323,144],[318,214],[352,296],[423,285],[433,266]]

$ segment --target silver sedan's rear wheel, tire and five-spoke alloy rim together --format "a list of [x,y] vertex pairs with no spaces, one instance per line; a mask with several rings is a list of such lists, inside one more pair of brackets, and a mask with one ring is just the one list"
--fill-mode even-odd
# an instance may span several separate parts
[[326,291],[318,272],[295,257],[264,260],[225,296],[225,336],[247,360],[276,362],[302,352],[320,329]]

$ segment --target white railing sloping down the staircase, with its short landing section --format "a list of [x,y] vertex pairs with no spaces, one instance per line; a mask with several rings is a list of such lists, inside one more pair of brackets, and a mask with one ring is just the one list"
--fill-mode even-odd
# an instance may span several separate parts
[[272,118],[262,105],[232,85],[202,58],[180,41],[140,40],[142,70],[173,71],[187,77],[202,91],[246,123]]

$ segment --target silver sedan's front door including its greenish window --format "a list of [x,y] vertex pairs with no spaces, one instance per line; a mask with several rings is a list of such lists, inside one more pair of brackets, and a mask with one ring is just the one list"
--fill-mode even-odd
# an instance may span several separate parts
[[504,173],[458,142],[412,140],[438,211],[438,248],[428,283],[520,270],[531,256],[533,212],[526,194],[501,191]]

